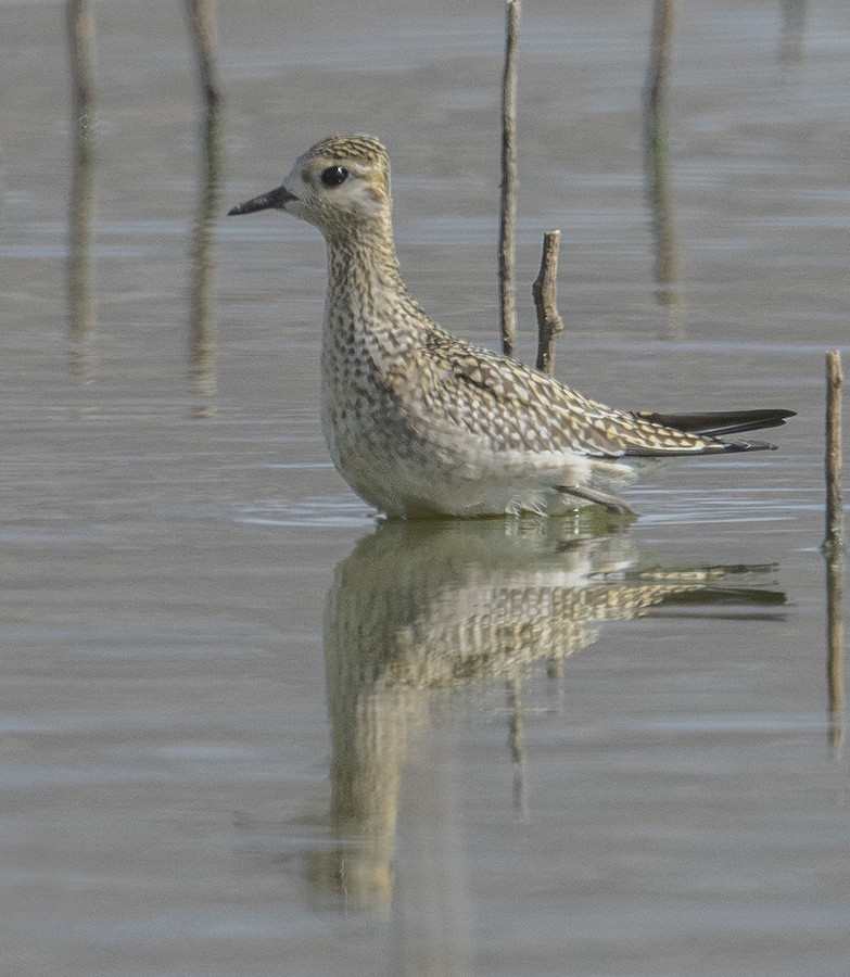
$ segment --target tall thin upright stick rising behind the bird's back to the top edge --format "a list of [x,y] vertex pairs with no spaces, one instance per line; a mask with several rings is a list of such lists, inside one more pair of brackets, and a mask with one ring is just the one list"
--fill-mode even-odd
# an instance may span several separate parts
[[513,270],[517,218],[517,43],[520,0],[507,0],[505,71],[502,77],[502,213],[498,244],[502,351],[512,356],[517,344],[517,309]]

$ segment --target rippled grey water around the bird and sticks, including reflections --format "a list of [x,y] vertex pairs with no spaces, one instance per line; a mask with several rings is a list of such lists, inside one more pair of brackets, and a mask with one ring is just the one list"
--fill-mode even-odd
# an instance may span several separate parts
[[557,227],[561,379],[798,411],[629,526],[378,519],[319,428],[320,238],[224,217],[372,132],[411,291],[496,345],[502,3],[220,0],[213,129],[179,4],[92,11],[80,179],[63,5],[0,2],[0,973],[847,974],[850,8],[678,4],[650,158],[651,4],[524,4],[522,358]]

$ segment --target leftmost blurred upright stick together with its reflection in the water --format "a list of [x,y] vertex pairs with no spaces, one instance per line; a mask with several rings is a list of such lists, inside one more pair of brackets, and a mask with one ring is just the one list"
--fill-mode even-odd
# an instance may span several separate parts
[[[65,8],[74,90],[74,163],[68,212],[67,288],[71,334],[83,340],[94,329],[91,249],[94,163],[94,17],[87,0],[67,0]],[[88,359],[77,351],[77,366]]]

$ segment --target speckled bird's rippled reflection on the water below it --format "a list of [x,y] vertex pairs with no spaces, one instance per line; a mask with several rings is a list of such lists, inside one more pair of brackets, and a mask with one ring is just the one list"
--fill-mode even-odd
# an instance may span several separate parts
[[402,762],[434,696],[498,680],[521,708],[523,677],[557,672],[606,621],[671,599],[784,601],[730,585],[732,572],[642,566],[631,535],[569,520],[381,523],[337,567],[327,599],[332,841],[313,855],[313,884],[348,906],[389,908]]

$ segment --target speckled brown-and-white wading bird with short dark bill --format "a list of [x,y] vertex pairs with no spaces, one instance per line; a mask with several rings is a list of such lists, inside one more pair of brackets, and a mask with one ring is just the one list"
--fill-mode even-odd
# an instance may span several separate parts
[[426,316],[398,271],[390,161],[368,136],[331,137],[282,186],[231,214],[275,207],[328,245],[322,427],[342,475],[390,516],[557,513],[601,503],[631,456],[766,448],[724,433],[781,424],[787,410],[664,416],[616,410]]

